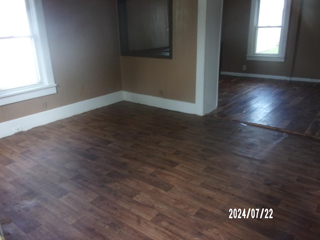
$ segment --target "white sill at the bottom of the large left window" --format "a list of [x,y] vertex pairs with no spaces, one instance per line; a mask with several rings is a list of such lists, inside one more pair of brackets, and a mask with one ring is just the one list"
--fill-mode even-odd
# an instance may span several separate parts
[[0,91],[0,106],[56,93],[56,84],[35,84]]

